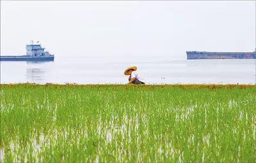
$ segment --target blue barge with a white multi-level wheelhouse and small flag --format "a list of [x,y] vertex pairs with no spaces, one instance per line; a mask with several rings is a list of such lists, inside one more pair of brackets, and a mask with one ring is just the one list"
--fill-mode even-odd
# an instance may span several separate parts
[[1,61],[44,61],[44,60],[54,60],[54,55],[49,52],[45,52],[45,48],[41,45],[26,45],[27,53],[26,55],[6,55],[0,56]]

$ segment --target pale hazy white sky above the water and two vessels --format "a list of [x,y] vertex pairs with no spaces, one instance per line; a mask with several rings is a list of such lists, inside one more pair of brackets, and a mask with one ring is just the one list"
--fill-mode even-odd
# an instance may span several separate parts
[[57,56],[255,50],[255,1],[1,1],[1,55],[30,40]]

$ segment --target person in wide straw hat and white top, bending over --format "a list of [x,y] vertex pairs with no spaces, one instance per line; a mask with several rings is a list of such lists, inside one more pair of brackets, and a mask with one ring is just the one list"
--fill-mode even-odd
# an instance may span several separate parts
[[130,75],[128,84],[145,84],[143,78],[135,72],[136,70],[136,66],[127,67],[127,69],[125,69],[124,74]]

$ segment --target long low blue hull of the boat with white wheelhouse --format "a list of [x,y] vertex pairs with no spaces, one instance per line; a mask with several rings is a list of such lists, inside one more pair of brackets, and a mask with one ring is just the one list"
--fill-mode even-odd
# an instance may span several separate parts
[[40,56],[40,57],[30,57],[26,55],[21,56],[0,56],[1,61],[44,61],[44,60],[54,60],[54,55],[50,56]]

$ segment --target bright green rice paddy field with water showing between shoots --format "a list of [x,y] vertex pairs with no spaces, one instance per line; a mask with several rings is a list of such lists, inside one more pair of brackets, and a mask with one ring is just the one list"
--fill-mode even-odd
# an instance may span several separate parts
[[253,85],[1,85],[0,162],[256,162]]

